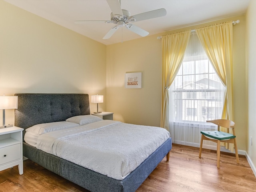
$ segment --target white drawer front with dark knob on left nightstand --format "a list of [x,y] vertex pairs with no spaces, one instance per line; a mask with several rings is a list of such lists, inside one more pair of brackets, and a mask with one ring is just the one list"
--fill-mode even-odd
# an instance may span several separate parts
[[0,165],[20,159],[20,143],[0,148]]

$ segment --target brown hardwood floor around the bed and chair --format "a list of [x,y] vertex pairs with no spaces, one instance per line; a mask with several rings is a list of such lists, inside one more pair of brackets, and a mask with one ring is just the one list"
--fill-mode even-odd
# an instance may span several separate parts
[[[236,164],[233,154],[221,153],[217,168],[216,151],[173,144],[170,161],[166,158],[136,192],[256,192],[256,177],[245,156]],[[24,174],[18,166],[0,172],[0,192],[88,192],[84,188],[24,161]]]

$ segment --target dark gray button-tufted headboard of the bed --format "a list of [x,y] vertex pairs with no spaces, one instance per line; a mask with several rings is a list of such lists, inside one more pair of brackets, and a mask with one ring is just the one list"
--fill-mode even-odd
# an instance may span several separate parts
[[24,129],[90,114],[88,94],[19,93],[15,96],[18,96],[18,109],[15,110],[14,125]]

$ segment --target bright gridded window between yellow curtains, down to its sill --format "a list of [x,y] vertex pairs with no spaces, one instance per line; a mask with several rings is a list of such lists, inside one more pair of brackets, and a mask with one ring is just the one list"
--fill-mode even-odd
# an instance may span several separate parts
[[191,34],[185,57],[170,87],[173,122],[206,122],[222,115],[224,86],[200,44]]

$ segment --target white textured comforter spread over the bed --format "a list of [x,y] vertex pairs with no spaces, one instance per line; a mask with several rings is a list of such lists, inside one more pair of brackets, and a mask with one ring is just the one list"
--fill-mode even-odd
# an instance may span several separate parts
[[42,134],[36,148],[122,180],[169,137],[163,128],[103,120]]

